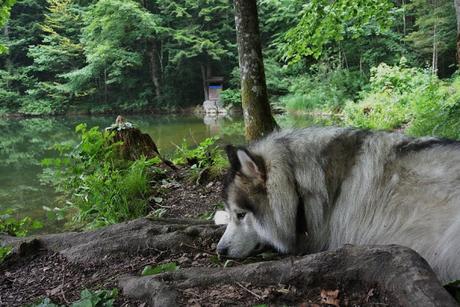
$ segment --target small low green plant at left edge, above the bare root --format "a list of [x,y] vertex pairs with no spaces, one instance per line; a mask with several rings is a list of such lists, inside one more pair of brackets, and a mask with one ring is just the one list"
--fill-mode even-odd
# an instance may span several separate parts
[[29,232],[43,227],[39,221],[30,217],[18,219],[14,216],[13,209],[0,211],[0,233],[6,233],[10,236],[25,237]]

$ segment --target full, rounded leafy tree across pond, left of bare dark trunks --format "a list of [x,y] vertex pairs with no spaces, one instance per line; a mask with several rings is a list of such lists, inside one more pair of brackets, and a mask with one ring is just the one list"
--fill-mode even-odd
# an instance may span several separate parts
[[[148,104],[152,89],[160,93],[159,79],[149,76],[152,70],[156,72],[149,69],[152,42],[164,31],[158,16],[135,1],[100,0],[88,9],[84,20],[81,42],[86,66],[64,75],[69,87],[76,95],[93,95],[105,105]],[[137,91],[140,85],[143,91]]]

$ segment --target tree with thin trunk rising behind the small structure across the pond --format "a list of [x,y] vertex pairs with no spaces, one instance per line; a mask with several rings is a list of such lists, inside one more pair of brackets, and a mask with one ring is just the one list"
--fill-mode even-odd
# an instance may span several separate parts
[[[183,61],[198,64],[203,93],[208,99],[206,80],[223,63],[236,57],[233,14],[228,0],[160,1],[164,16],[175,16],[174,31],[167,44],[172,64]],[[165,2],[165,3],[163,3]],[[214,65],[213,65],[214,64]],[[218,64],[218,65],[216,65]]]

